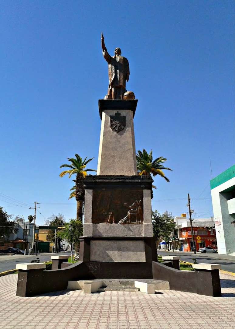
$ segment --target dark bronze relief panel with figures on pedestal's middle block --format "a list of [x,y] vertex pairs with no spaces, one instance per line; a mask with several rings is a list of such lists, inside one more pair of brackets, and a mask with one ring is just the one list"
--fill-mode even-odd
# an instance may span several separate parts
[[143,190],[93,190],[92,223],[141,224]]

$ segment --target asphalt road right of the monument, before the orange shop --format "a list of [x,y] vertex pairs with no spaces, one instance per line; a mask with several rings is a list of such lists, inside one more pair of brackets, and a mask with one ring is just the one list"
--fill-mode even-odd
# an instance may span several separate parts
[[180,256],[180,260],[185,262],[193,263],[192,258],[196,258],[197,263],[213,263],[221,264],[221,269],[225,271],[235,273],[235,256],[219,255],[214,253],[184,253],[184,252],[172,252],[172,251],[160,251],[158,250],[158,255],[160,256]]

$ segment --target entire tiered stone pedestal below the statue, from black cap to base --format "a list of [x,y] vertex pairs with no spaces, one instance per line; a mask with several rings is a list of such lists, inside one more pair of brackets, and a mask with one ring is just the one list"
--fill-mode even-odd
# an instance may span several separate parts
[[133,118],[137,100],[99,100],[96,176],[87,176],[79,261],[96,278],[152,278],[157,259],[152,178],[137,175]]

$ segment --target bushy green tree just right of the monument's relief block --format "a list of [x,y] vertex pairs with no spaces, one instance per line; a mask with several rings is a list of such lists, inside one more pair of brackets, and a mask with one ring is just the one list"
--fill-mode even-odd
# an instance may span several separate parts
[[168,211],[165,211],[162,215],[155,210],[152,212],[152,223],[153,223],[153,236],[157,240],[162,238],[169,243],[169,240],[174,234],[176,223],[174,217]]

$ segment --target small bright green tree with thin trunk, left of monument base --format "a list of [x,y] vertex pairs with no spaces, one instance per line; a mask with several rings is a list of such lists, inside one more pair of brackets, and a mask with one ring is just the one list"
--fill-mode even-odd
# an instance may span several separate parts
[[58,237],[67,240],[71,245],[71,260],[73,258],[73,247],[75,243],[79,245],[79,237],[82,236],[82,233],[82,222],[76,219],[71,219],[68,223],[65,223],[63,229],[58,232]]

